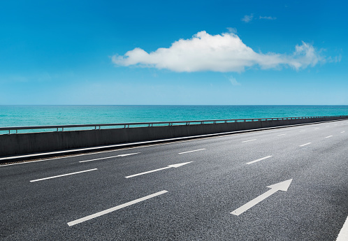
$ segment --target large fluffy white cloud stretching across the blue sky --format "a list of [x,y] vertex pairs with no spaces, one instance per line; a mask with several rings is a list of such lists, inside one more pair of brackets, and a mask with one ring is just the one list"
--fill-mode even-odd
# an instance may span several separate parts
[[245,68],[261,69],[291,67],[296,70],[314,66],[324,57],[309,43],[296,45],[293,54],[257,53],[233,33],[210,35],[200,31],[189,39],[175,41],[170,48],[159,48],[147,53],[135,48],[114,55],[113,63],[119,66],[140,66],[168,69],[175,72],[242,72]]

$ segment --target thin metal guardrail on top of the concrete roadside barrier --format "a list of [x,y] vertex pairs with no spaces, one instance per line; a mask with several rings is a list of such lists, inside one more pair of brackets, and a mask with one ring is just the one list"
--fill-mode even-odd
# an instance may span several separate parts
[[[55,129],[55,131],[64,131],[64,129],[78,129],[92,127],[92,130],[100,130],[102,126],[115,126],[115,128],[132,128],[132,127],[152,127],[152,126],[173,126],[173,125],[191,125],[191,124],[218,124],[231,122],[261,122],[271,120],[284,119],[316,119],[328,117],[342,117],[348,118],[348,115],[333,115],[333,116],[319,116],[319,117],[281,117],[281,118],[249,118],[249,119],[208,119],[208,120],[193,120],[193,121],[175,121],[175,122],[131,122],[131,123],[112,123],[112,124],[71,124],[71,125],[54,125],[54,126],[11,126],[0,127],[0,131],[8,131],[8,134],[18,133],[18,130],[36,130],[36,129]],[[117,127],[116,127],[117,126]],[[45,132],[45,131],[38,131]]]

